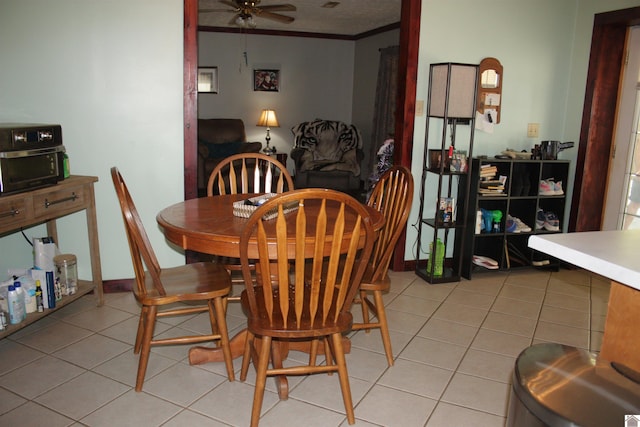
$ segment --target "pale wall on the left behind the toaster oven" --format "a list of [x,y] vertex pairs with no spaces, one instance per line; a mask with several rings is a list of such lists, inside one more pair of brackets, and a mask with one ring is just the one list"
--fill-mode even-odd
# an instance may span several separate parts
[[[184,262],[155,221],[183,198],[182,25],[182,0],[0,2],[0,122],[61,124],[71,172],[99,177],[105,279],[133,277],[112,165],[129,181],[161,263]],[[60,249],[78,256],[82,278],[91,269],[85,230],[84,215],[59,221]],[[33,263],[19,234],[0,238],[0,254],[0,277]]]

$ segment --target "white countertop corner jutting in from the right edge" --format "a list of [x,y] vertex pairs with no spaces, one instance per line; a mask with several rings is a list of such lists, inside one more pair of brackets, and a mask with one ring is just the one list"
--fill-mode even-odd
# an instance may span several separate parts
[[640,290],[640,230],[540,234],[529,247]]

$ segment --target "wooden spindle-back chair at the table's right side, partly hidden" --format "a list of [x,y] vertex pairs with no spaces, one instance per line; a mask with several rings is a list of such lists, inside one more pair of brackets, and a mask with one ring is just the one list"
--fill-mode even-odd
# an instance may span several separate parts
[[[388,169],[380,177],[367,201],[369,206],[384,215],[385,224],[378,232],[369,268],[362,279],[358,296],[354,301],[361,304],[362,323],[354,323],[353,329],[365,329],[367,333],[372,328],[380,329],[389,366],[393,366],[393,352],[382,293],[387,292],[391,286],[388,275],[389,263],[409,218],[412,201],[413,176],[411,171],[404,166],[392,166]],[[373,297],[373,301],[369,299],[369,295]],[[373,319],[372,315],[375,315],[377,321]]]

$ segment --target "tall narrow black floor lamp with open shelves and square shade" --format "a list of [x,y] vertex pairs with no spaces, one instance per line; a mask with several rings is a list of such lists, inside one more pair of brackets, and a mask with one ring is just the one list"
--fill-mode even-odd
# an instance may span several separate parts
[[[477,81],[478,65],[449,62],[432,64],[429,69],[416,275],[432,284],[455,282],[461,277]],[[434,137],[434,141],[430,141],[430,131],[437,132],[432,129],[435,126],[441,128],[440,138]],[[466,170],[451,170],[451,151],[454,149],[466,152]],[[433,189],[435,197],[432,198]],[[441,199],[456,201],[456,215],[449,221],[439,212]],[[431,268],[427,266],[432,252],[430,246],[435,251],[438,239],[444,244],[445,256],[443,273],[436,275],[435,262],[431,263]]]

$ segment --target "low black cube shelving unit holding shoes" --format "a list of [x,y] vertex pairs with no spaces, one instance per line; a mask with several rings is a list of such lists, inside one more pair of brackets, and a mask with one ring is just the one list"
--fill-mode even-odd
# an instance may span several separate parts
[[[497,168],[497,176],[505,176],[506,182],[501,194],[480,194],[480,170],[491,165]],[[548,255],[528,247],[529,236],[562,232],[568,219],[565,212],[567,180],[569,177],[568,160],[517,160],[517,159],[473,159],[473,174],[470,178],[471,192],[469,207],[465,216],[466,245],[462,259],[462,276],[471,279],[475,272],[488,271],[473,263],[473,256],[484,256],[495,260],[499,270],[508,270],[520,266],[557,267],[558,261]],[[540,180],[553,178],[562,182],[562,193],[541,195]],[[481,209],[499,210],[502,219],[497,231],[478,232],[476,229],[477,212]],[[536,215],[539,209],[553,212],[559,219],[559,231],[545,228],[536,229]],[[530,232],[507,232],[507,214],[517,217],[531,228]]]

